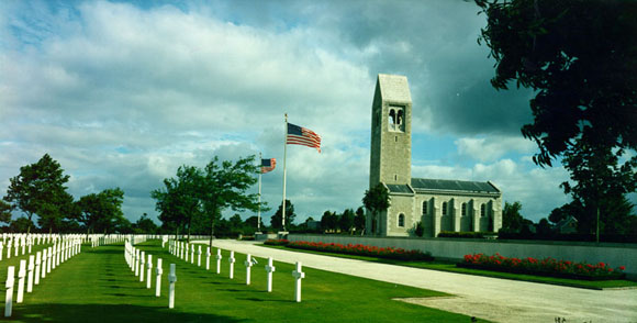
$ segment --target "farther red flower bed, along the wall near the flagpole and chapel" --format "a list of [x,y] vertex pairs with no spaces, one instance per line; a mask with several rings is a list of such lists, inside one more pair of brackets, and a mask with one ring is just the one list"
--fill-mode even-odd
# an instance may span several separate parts
[[389,259],[399,259],[399,260],[425,260],[431,261],[434,259],[432,254],[423,253],[421,250],[405,250],[403,248],[394,248],[394,247],[376,247],[376,246],[367,246],[361,244],[334,244],[334,243],[313,243],[313,242],[304,242],[304,241],[297,241],[291,242],[288,244],[289,248],[298,248],[298,249],[308,249],[308,250],[317,250],[317,252],[325,252],[325,253],[335,253],[335,254],[348,254],[348,255],[359,255],[359,256],[372,256],[379,258],[389,258]]

